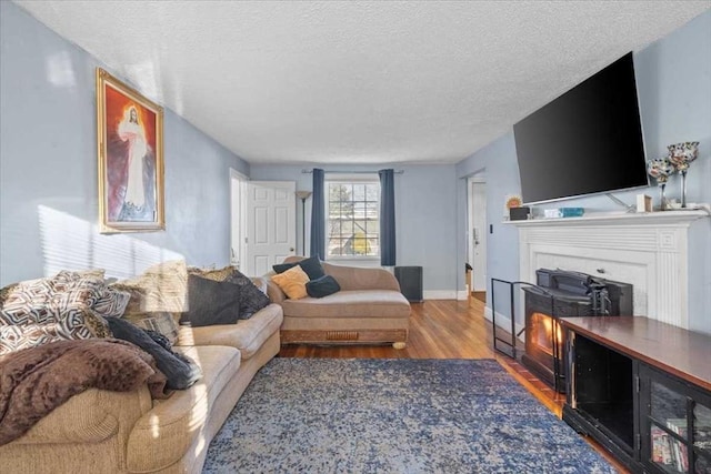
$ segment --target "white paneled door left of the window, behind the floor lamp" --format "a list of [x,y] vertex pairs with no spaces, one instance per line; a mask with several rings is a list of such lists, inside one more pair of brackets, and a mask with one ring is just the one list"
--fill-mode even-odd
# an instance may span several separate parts
[[297,249],[297,183],[247,183],[247,252],[242,273],[259,276]]

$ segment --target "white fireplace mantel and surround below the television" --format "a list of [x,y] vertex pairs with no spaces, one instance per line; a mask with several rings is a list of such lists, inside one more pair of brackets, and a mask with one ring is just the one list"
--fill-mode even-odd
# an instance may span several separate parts
[[519,229],[522,281],[535,282],[537,269],[561,269],[632,283],[634,315],[688,329],[689,229],[708,216],[705,210],[600,213],[508,224]]

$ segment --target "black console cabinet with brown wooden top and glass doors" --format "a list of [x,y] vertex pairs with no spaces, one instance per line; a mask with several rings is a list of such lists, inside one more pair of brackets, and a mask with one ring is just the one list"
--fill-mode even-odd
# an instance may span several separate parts
[[563,420],[633,472],[711,473],[711,335],[642,316],[560,321]]

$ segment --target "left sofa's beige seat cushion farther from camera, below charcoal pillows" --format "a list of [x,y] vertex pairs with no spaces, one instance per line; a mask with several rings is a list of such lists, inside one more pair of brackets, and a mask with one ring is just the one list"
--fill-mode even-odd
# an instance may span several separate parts
[[281,306],[270,304],[246,321],[206,327],[180,326],[180,345],[227,345],[239,349],[242,360],[250,359],[283,321]]

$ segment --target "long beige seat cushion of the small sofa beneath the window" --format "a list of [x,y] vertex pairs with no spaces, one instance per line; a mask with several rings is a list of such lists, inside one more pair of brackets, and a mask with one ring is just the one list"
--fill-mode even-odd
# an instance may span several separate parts
[[397,291],[339,291],[326,297],[281,302],[289,317],[409,317],[410,303]]

